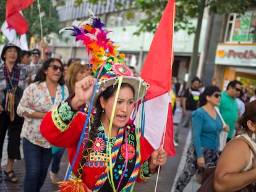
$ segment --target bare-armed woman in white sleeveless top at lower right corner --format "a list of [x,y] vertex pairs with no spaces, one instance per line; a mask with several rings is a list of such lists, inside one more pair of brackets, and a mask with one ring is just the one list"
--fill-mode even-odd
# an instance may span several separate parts
[[[256,149],[256,101],[245,106],[238,121],[245,139]],[[219,191],[237,191],[256,181],[256,159],[249,145],[242,140],[231,140],[223,149],[215,170],[214,187]]]

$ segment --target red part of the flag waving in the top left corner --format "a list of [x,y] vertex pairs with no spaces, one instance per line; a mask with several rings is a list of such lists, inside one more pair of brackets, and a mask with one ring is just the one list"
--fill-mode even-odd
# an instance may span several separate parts
[[8,28],[14,28],[20,35],[27,32],[28,23],[19,11],[27,8],[34,1],[35,0],[7,0],[6,21]]

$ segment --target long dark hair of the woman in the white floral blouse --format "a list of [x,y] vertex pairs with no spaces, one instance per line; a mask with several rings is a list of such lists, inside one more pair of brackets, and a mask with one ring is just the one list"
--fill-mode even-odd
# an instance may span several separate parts
[[[49,65],[51,65],[54,61],[58,61],[61,64],[61,66],[63,67],[63,64],[62,64],[61,60],[59,60],[57,58],[46,59],[45,62],[43,62],[43,65],[41,66],[41,68],[36,73],[36,77],[35,77],[34,82],[39,81],[38,83],[41,83],[41,82],[46,80],[45,71],[48,69]],[[59,85],[64,85],[65,84],[64,76],[63,76],[62,72],[61,72],[61,78],[59,78],[58,83],[59,83]]]

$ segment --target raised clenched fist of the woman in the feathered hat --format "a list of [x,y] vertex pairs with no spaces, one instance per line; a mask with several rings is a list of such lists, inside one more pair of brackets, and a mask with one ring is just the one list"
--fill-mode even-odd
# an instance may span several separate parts
[[95,82],[96,79],[89,75],[75,83],[75,96],[70,101],[70,104],[74,109],[79,108],[82,104],[92,98],[93,85]]

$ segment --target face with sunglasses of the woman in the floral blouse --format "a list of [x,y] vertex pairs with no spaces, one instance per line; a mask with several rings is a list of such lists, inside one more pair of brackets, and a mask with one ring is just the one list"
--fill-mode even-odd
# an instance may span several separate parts
[[45,71],[46,74],[46,80],[50,80],[53,82],[58,82],[59,78],[61,78],[63,72],[63,67],[60,62],[54,61],[51,64],[49,64],[48,68]]

